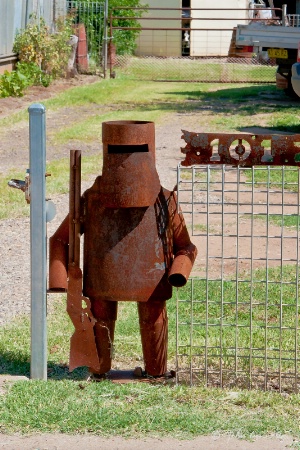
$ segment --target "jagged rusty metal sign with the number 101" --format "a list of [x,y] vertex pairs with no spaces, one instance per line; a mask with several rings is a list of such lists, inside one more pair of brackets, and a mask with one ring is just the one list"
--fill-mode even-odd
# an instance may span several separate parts
[[[231,164],[251,167],[256,165],[300,166],[300,135],[251,133],[195,133],[182,130],[186,146],[182,166],[193,164]],[[265,149],[263,141],[270,141]],[[217,152],[213,145],[217,143]],[[244,145],[245,144],[245,145]]]

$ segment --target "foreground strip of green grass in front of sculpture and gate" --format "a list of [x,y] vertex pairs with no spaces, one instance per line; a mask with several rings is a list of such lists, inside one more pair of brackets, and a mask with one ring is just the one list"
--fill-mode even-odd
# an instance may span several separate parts
[[[101,436],[193,438],[230,433],[299,436],[299,397],[204,388],[16,383],[0,407],[2,429]],[[276,398],[277,397],[277,398]],[[56,405],[56,408],[54,408]],[[3,427],[3,425],[5,427]]]

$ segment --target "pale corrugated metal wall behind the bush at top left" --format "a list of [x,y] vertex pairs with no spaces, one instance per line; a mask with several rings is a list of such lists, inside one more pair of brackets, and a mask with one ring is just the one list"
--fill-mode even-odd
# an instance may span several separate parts
[[25,28],[31,14],[43,17],[49,26],[64,15],[65,0],[1,0],[0,1],[0,58],[12,54],[17,30]]

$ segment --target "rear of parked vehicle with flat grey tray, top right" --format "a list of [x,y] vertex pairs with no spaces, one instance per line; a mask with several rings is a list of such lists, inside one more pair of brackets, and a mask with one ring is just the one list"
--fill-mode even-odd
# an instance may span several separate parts
[[[273,2],[270,3],[273,6]],[[300,12],[300,0],[296,2],[296,11]],[[270,6],[261,8],[258,17],[253,18],[248,25],[237,25],[236,47],[252,46],[258,58],[275,60],[278,66],[277,88],[283,89],[288,95],[297,96],[291,77],[300,43],[300,14],[288,12],[287,5],[282,5],[281,12]]]

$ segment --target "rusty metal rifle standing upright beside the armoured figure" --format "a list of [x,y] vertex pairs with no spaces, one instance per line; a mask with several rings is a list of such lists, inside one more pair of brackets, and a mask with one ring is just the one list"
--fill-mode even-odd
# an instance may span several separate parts
[[94,324],[90,299],[82,295],[82,271],[80,269],[80,197],[81,152],[70,152],[70,199],[69,199],[69,263],[67,312],[74,325],[70,340],[69,370],[87,366],[100,370],[95,343]]

